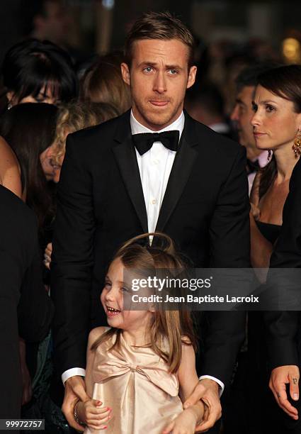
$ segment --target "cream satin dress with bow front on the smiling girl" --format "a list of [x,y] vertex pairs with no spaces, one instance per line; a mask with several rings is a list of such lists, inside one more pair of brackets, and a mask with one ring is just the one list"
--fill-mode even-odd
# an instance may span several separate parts
[[86,428],[86,434],[160,434],[183,411],[178,377],[150,348],[128,345],[120,335],[120,348],[109,350],[115,335],[98,345],[87,392],[112,408],[105,430]]

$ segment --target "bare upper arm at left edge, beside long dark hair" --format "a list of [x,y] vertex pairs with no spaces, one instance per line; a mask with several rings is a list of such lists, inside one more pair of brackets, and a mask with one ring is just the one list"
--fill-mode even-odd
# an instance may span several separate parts
[[20,166],[13,150],[2,137],[0,137],[0,184],[21,198]]

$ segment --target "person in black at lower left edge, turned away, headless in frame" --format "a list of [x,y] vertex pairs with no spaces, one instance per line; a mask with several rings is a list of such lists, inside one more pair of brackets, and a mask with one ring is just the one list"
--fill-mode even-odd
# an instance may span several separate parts
[[35,216],[0,185],[0,418],[19,418],[19,336],[38,342],[50,330],[53,306],[42,284]]

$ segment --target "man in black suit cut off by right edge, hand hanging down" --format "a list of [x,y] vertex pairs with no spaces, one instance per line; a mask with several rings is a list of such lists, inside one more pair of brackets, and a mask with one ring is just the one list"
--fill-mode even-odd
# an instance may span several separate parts
[[[271,256],[271,268],[301,268],[301,160],[290,178],[290,192],[283,208],[283,226]],[[273,273],[268,283],[275,291]],[[287,287],[280,287],[285,291]],[[301,296],[295,300],[300,306]],[[271,360],[270,389],[283,413],[283,429],[300,433],[300,365],[301,314],[300,311],[267,311],[264,313],[267,345]],[[283,431],[282,431],[283,432]]]

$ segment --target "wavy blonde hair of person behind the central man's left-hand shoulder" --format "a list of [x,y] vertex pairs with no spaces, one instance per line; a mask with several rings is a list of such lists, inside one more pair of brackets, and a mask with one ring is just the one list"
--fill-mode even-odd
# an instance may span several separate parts
[[106,103],[73,102],[59,107],[52,161],[59,165],[66,148],[66,133],[74,133],[118,116],[114,106]]

